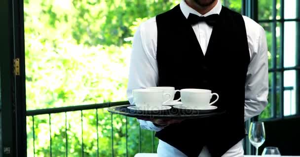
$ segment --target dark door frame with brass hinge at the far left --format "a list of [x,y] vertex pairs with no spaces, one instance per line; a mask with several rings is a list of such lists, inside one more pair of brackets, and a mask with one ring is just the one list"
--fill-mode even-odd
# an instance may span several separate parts
[[27,156],[23,10],[23,0],[0,0],[2,157]]

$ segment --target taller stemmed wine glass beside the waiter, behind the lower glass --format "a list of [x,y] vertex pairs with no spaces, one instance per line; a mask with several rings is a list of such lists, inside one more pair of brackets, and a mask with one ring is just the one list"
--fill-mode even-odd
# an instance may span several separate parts
[[249,140],[251,144],[256,148],[256,156],[258,156],[259,147],[263,145],[263,142],[265,140],[263,122],[251,122]]

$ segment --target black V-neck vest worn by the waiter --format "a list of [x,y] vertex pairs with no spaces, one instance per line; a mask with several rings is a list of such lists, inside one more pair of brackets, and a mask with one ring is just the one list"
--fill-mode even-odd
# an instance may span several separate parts
[[245,137],[245,80],[250,55],[244,20],[223,6],[205,55],[179,5],[157,15],[156,24],[158,86],[210,89],[220,96],[214,105],[226,113],[185,120],[155,136],[188,157],[198,157],[203,146],[213,157],[221,157]]

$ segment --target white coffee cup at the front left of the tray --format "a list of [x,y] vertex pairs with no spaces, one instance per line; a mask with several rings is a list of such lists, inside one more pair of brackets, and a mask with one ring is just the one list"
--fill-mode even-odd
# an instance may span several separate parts
[[[171,99],[170,93],[164,93],[161,89],[134,89],[133,101],[136,106],[161,106]],[[169,99],[164,101],[164,96]]]

